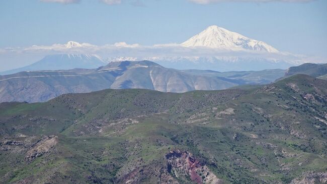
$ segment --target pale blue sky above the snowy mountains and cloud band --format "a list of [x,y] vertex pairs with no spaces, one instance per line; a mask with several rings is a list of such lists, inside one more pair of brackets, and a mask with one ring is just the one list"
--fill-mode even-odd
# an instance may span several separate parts
[[[210,25],[281,51],[327,58],[325,0],[0,1],[3,49],[69,40],[94,45],[181,43]],[[1,54],[0,70],[14,68]]]

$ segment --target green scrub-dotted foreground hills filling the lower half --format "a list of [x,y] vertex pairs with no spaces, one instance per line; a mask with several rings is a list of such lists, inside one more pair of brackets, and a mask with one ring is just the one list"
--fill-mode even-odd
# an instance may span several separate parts
[[[155,65],[153,65],[155,67]],[[327,81],[0,104],[1,183],[324,183]]]

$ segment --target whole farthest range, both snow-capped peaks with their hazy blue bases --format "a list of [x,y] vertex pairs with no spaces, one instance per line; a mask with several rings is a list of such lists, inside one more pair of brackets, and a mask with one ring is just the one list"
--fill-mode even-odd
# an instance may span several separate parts
[[[89,43],[68,41],[66,44],[32,46],[30,49],[35,50],[37,48],[43,49],[47,53],[49,50],[54,50],[55,53],[62,52],[62,54],[46,55],[32,65],[0,72],[0,75],[22,71],[94,69],[110,62],[124,60],[151,60],[166,68],[215,70],[220,72],[288,69],[304,63],[297,56],[280,52],[263,41],[251,39],[218,26],[210,26],[181,44],[163,47],[154,46],[148,50],[151,53],[149,55],[158,54],[161,56],[146,56],[146,52],[142,56],[128,55],[139,51],[143,53],[148,47],[142,47],[138,44],[128,45],[126,43],[97,46]],[[122,55],[110,56],[109,53],[107,54],[112,48],[116,49],[114,53],[121,53]],[[152,53],[151,49],[156,49],[155,52],[157,53]],[[172,49],[169,52],[173,53],[182,50],[182,53],[178,53],[176,56],[162,56],[166,54],[160,53],[161,49]],[[127,50],[127,53],[121,50]],[[167,50],[164,52],[167,52]]]

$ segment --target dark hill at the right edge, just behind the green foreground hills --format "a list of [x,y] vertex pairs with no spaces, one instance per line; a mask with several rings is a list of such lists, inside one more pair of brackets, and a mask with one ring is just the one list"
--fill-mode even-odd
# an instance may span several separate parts
[[312,77],[323,76],[327,74],[327,64],[306,63],[297,67],[291,67],[286,71],[285,76],[296,74],[305,74]]

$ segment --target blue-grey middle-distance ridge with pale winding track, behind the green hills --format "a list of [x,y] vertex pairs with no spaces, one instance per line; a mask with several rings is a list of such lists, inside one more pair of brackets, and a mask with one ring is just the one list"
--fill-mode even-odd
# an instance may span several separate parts
[[162,92],[227,89],[243,84],[267,84],[283,70],[263,72],[179,71],[149,61],[112,62],[98,69],[20,72],[0,76],[0,102],[42,102],[65,93],[102,89],[142,88]]

